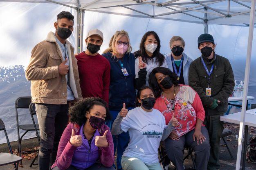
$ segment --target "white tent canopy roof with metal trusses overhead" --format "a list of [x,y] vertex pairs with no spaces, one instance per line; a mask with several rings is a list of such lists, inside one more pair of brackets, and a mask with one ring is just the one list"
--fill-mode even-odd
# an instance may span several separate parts
[[3,0],[198,24],[248,26],[251,0]]

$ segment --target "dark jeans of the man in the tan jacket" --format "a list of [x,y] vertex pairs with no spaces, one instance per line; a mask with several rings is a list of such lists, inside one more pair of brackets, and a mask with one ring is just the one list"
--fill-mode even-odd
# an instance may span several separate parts
[[68,104],[36,104],[36,115],[41,137],[39,170],[48,170],[56,159],[58,143],[67,126]]

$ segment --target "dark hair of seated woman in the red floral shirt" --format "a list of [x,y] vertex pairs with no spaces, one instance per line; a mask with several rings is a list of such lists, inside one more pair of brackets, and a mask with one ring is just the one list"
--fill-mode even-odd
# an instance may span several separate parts
[[173,73],[170,69],[168,68],[164,68],[164,67],[157,67],[157,68],[154,68],[152,70],[152,72],[149,74],[149,78],[148,78],[148,84],[150,87],[153,88],[153,92],[155,93],[155,97],[158,98],[161,96],[161,92],[160,92],[160,89],[161,87],[159,86],[159,84],[157,83],[157,78],[155,78],[155,74],[156,73],[162,73],[164,75],[167,75],[167,76],[170,76],[171,79],[173,80],[173,84],[175,86],[178,85],[178,76]]

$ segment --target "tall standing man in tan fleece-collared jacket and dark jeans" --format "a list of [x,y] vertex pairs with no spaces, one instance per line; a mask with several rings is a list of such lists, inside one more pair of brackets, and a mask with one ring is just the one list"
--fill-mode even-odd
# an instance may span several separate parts
[[66,40],[73,25],[71,13],[59,13],[54,23],[55,33],[49,32],[46,40],[33,48],[25,73],[31,81],[40,129],[39,170],[48,170],[54,163],[58,142],[68,122],[68,107],[82,98],[74,48]]

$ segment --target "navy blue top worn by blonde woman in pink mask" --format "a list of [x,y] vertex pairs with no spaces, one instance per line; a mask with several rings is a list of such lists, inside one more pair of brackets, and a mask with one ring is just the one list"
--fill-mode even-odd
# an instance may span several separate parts
[[[112,56],[111,52],[102,54],[110,63],[110,89],[108,106],[110,110],[120,111],[123,103],[127,107],[135,107],[135,56],[129,52],[122,59]],[[126,68],[128,76],[121,71],[121,63]]]

